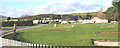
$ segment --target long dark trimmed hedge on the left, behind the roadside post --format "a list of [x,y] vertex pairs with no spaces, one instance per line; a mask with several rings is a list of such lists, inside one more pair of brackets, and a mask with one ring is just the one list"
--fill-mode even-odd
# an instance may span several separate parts
[[2,22],[2,27],[5,26],[13,26],[17,24],[17,26],[31,26],[33,25],[32,21],[9,21],[9,22]]

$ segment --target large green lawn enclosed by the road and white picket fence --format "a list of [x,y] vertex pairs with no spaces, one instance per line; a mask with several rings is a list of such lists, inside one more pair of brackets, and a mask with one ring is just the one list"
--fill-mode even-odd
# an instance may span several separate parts
[[[113,33],[114,32],[114,33]],[[94,40],[118,40],[118,23],[47,25],[10,34],[5,38],[57,46],[94,46]],[[110,34],[113,33],[113,34]]]

